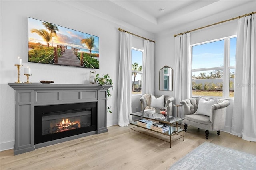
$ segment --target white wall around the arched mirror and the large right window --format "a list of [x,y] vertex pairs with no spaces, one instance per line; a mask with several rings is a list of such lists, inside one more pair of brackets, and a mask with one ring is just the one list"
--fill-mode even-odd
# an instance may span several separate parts
[[[228,11],[218,13],[214,16],[206,17],[203,20],[193,21],[186,25],[181,25],[179,27],[176,27],[172,30],[169,30],[163,33],[158,33],[158,35],[156,35],[156,43],[155,43],[156,45],[156,48],[155,48],[155,80],[156,80],[155,94],[156,95],[165,94],[165,95],[172,95],[172,96],[174,95],[173,91],[159,90],[159,70],[165,65],[168,65],[171,68],[173,68],[174,74],[177,70],[177,68],[174,67],[175,66],[174,64],[175,39],[173,36],[174,34],[182,33],[192,29],[217,23],[219,21],[228,20],[230,18],[242,16],[244,14],[254,12],[255,9],[256,9],[256,2],[252,1],[247,4],[244,4],[243,6],[240,6],[239,8],[232,8]],[[210,41],[214,39],[236,35],[236,32],[237,32],[237,20],[228,21],[225,23],[221,23],[218,25],[214,25],[211,27],[200,29],[198,31],[191,32],[190,44],[192,45],[196,43],[201,43],[205,41]],[[173,81],[173,83],[175,84],[175,80]],[[226,124],[223,131],[230,132],[231,123],[232,123],[233,100],[230,100],[230,99],[228,100],[230,101],[230,106],[228,106],[227,108]],[[176,103],[179,103],[179,102],[176,101]]]

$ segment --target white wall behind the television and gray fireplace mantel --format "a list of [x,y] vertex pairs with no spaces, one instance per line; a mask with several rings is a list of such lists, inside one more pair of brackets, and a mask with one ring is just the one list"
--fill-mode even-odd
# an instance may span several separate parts
[[[64,1],[67,2],[67,1]],[[54,80],[57,84],[88,84],[92,69],[28,63],[28,17],[47,21],[100,37],[100,69],[96,73],[109,74],[113,81],[112,96],[108,99],[112,113],[107,113],[107,126],[118,124],[117,82],[120,32],[118,27],[154,39],[154,35],[122,21],[104,20],[86,11],[56,0],[1,0],[0,1],[0,150],[13,148],[14,144],[14,90],[8,82],[17,81],[14,59],[23,59],[20,81],[26,82],[24,67],[30,66],[30,82]],[[134,45],[144,44],[133,37]],[[143,43],[142,43],[143,42]],[[143,45],[142,45],[143,47]]]

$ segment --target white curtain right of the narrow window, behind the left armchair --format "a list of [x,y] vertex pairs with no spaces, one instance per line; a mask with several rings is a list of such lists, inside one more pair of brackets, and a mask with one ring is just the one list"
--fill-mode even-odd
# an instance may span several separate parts
[[155,61],[154,42],[144,41],[144,57],[142,65],[142,94],[155,93]]

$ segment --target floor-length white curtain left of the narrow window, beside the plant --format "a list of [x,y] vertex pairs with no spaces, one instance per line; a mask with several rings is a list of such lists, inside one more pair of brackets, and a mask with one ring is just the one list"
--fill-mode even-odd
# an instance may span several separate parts
[[132,113],[132,35],[120,32],[120,59],[118,74],[118,125],[128,126]]

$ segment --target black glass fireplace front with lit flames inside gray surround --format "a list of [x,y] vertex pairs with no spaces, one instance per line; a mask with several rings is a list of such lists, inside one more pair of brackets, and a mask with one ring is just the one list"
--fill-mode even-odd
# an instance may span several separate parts
[[34,144],[96,130],[96,102],[34,107]]

